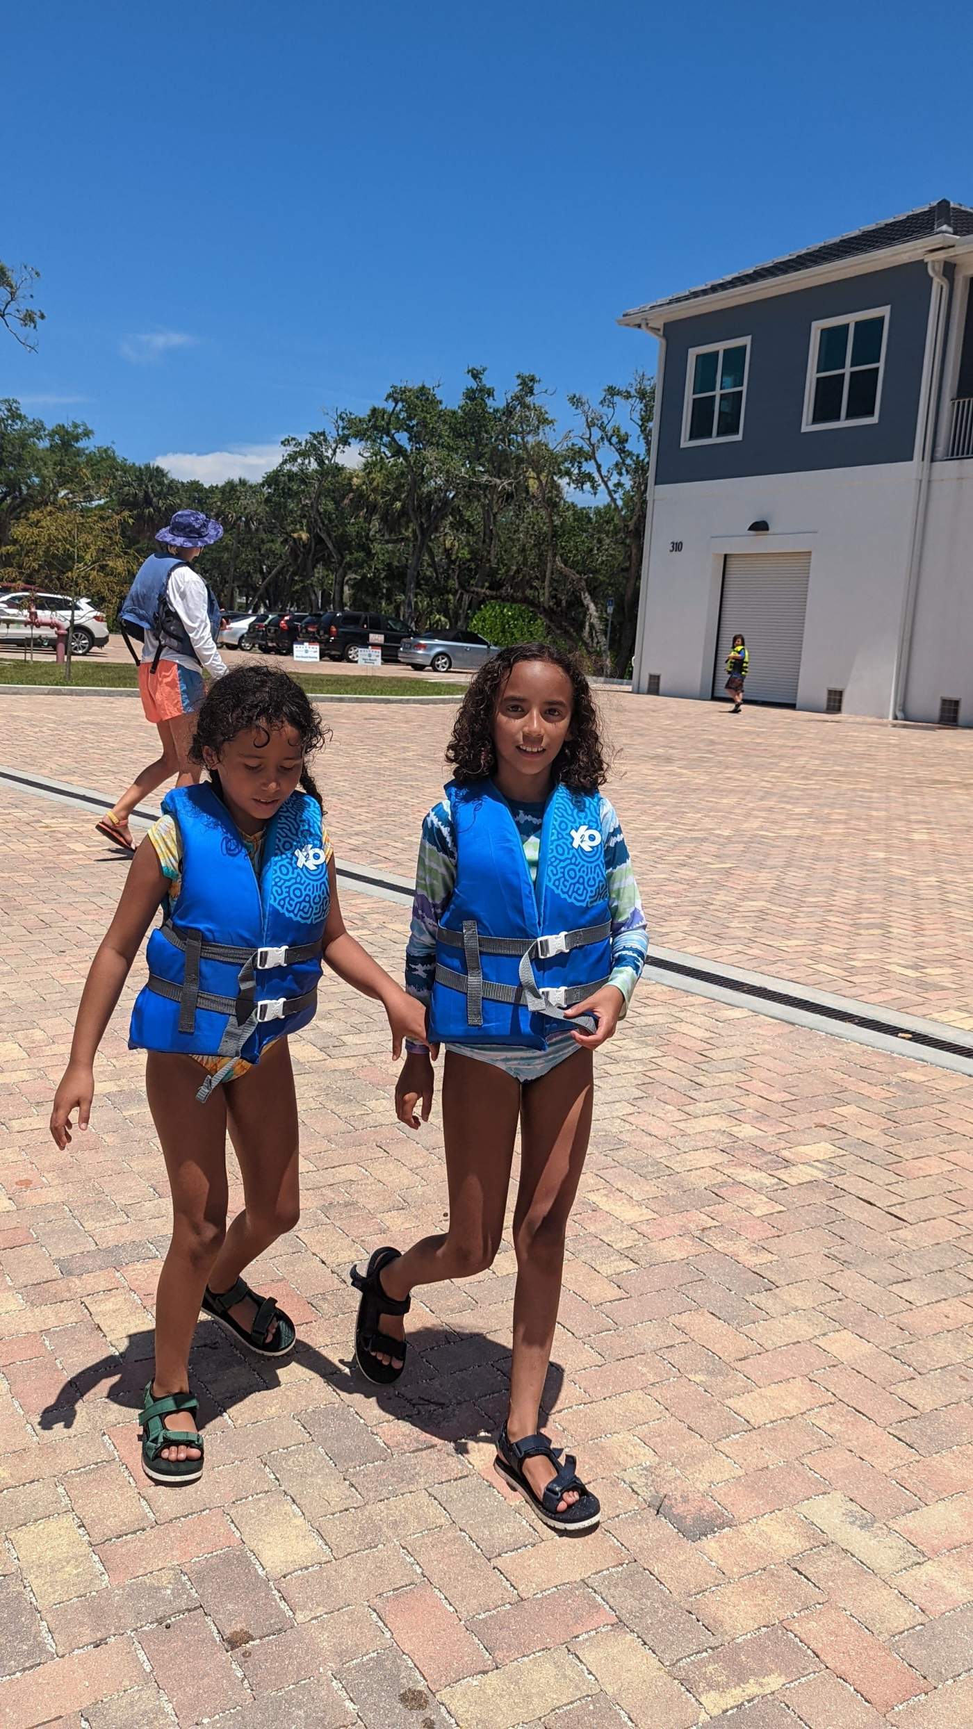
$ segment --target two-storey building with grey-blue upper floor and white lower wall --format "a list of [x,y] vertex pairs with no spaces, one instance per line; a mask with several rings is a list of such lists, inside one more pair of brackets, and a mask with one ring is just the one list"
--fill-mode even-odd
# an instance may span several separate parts
[[973,209],[622,325],[658,339],[634,688],[973,724]]

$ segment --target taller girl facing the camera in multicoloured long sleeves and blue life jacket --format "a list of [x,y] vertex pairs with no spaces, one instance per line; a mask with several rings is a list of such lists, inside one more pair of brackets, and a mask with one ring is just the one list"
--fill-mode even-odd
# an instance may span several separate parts
[[[449,1229],[365,1273],[356,1357],[372,1381],[406,1361],[410,1292],[489,1267],[503,1235],[513,1141],[517,1288],[510,1409],[498,1470],[553,1527],[586,1530],[598,1501],[574,1458],[537,1433],[565,1228],[591,1129],[591,1053],[626,1011],[646,953],[619,820],[598,794],[605,756],[588,679],[543,643],[505,648],[470,685],[446,752],[453,780],[425,818],[406,986],[446,1046]],[[399,1120],[432,1107],[429,1050],[408,1046]]]

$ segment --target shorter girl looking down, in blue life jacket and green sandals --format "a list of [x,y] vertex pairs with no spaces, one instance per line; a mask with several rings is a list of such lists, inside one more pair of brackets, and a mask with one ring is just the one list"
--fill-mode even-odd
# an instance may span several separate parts
[[[378,998],[392,1030],[425,1037],[422,1003],[347,934],[321,801],[304,757],[321,723],[294,679],[244,667],[211,685],[192,750],[209,782],[162,801],[138,847],[81,996],[50,1132],[88,1127],[93,1060],[159,904],[149,980],[130,1046],[149,1051],[145,1088],[173,1195],[173,1241],[159,1276],[156,1375],[142,1404],[142,1466],[161,1483],[202,1473],[187,1416],[188,1352],[200,1307],[264,1357],[294,1347],[294,1324],[244,1267],[297,1224],[297,1103],[287,1036],[316,1008],[321,956]],[[304,788],[304,790],[299,790]],[[226,1229],[226,1129],[244,1212]]]

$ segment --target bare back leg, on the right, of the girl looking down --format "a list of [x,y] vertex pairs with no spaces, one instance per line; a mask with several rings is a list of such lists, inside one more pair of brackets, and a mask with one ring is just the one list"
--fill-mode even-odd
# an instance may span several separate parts
[[[294,1229],[301,1214],[297,1098],[287,1039],[266,1046],[258,1067],[232,1081],[226,1093],[230,1139],[244,1177],[244,1212],[233,1219],[213,1262],[207,1279],[213,1292],[228,1292],[251,1260]],[[249,1328],[256,1304],[245,1297],[230,1314]],[[275,1331],[277,1321],[268,1343]]]

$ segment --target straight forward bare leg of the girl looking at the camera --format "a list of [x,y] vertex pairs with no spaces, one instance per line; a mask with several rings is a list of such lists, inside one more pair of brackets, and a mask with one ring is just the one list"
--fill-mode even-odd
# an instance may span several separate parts
[[[512,1440],[534,1435],[562,1293],[567,1221],[591,1134],[591,1051],[579,1050],[524,1088],[520,1105],[520,1184],[513,1209],[517,1288],[513,1292],[513,1362],[510,1368]],[[527,1459],[537,1494],[556,1475],[550,1459]],[[577,1494],[562,1496],[563,1511]]]

